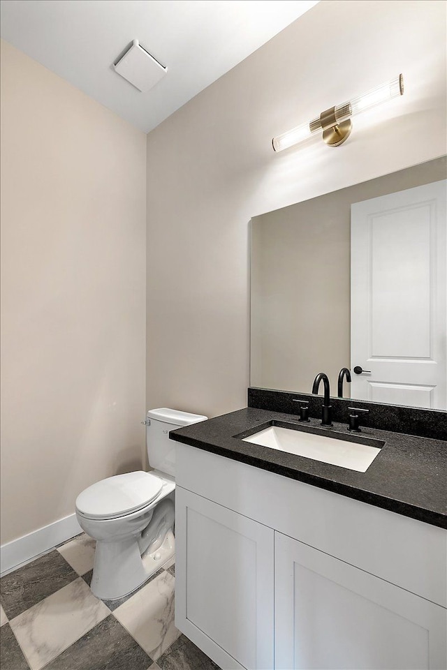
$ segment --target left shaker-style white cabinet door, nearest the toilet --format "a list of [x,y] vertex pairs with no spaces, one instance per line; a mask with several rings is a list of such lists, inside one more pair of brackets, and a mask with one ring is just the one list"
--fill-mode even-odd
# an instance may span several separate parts
[[271,670],[274,531],[179,486],[175,508],[175,625],[225,670]]

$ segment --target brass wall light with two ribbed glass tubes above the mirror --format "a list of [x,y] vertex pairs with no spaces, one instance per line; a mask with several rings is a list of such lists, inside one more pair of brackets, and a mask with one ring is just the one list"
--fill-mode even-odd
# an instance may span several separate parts
[[362,96],[353,98],[353,100],[342,105],[330,107],[329,110],[321,112],[320,116],[307,124],[302,124],[291,131],[273,137],[272,146],[274,151],[283,151],[292,147],[293,144],[304,142],[312,137],[317,131],[323,131],[323,140],[329,147],[338,147],[351,135],[352,123],[351,117],[354,114],[360,114],[365,110],[371,109],[376,105],[403,96],[404,77],[399,75],[386,84],[371,89]]

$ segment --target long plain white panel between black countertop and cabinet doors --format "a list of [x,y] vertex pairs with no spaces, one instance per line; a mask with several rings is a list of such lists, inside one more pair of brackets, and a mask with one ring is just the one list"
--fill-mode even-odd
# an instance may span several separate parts
[[184,489],[447,606],[442,528],[196,447],[176,458]]

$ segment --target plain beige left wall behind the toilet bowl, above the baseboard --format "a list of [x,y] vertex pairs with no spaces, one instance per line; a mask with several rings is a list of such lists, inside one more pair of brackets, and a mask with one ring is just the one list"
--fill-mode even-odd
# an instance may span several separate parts
[[1,44],[1,542],[139,468],[145,135]]

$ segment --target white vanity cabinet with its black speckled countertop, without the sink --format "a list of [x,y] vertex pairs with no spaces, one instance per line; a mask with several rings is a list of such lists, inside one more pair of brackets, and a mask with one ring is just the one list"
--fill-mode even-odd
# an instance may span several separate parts
[[272,422],[304,425],[249,407],[170,434],[179,630],[223,670],[446,668],[447,443],[367,427],[358,472],[244,441]]

